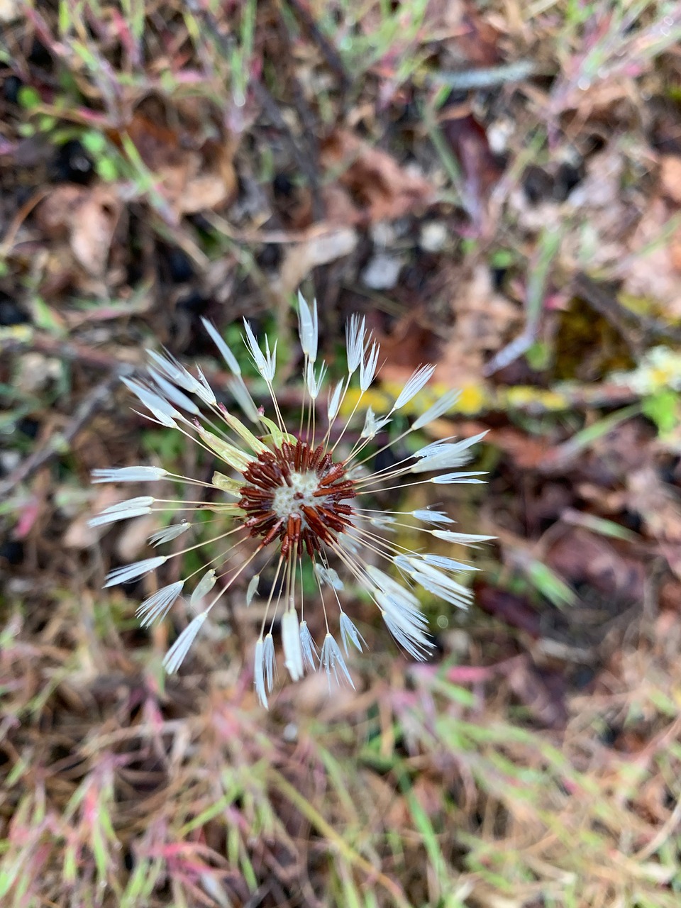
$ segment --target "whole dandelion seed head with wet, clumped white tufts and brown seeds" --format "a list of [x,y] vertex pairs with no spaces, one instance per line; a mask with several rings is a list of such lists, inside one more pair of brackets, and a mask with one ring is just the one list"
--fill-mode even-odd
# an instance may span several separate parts
[[[105,585],[112,587],[136,580],[163,565],[168,558],[178,558],[204,545],[224,543],[202,571],[162,587],[138,609],[143,625],[150,625],[168,614],[190,583],[191,606],[198,609],[198,614],[165,656],[164,666],[167,671],[174,672],[182,665],[203,622],[225,590],[240,578],[240,583],[248,578],[250,582],[244,598],[249,605],[265,562],[271,563],[274,580],[255,646],[253,670],[255,690],[264,706],[267,706],[267,697],[274,684],[276,658],[271,631],[277,618],[281,619],[284,665],[292,680],[301,678],[305,671],[321,667],[330,681],[333,678],[352,684],[345,656],[352,647],[362,651],[366,643],[341,605],[345,590],[341,575],[349,577],[353,584],[369,594],[391,634],[410,656],[426,658],[432,647],[428,622],[412,585],[418,584],[444,601],[465,608],[471,598],[470,591],[455,576],[472,568],[447,556],[405,549],[390,539],[390,533],[396,528],[409,527],[426,539],[434,537],[465,545],[490,537],[457,533],[450,529],[451,518],[429,508],[409,512],[371,508],[371,498],[379,490],[401,489],[405,485],[480,482],[479,472],[461,472],[459,468],[468,462],[471,446],[482,435],[459,441],[436,441],[394,466],[372,471],[370,450],[374,449],[373,453],[376,453],[373,439],[390,426],[397,411],[425,387],[432,375],[431,366],[419,366],[413,372],[390,410],[382,416],[370,407],[361,408],[361,398],[378,368],[380,350],[368,334],[364,319],[353,316],[346,338],[347,375],[329,390],[326,406],[320,408],[317,401],[327,366],[317,360],[317,304],[314,302],[310,306],[299,295],[304,400],[300,419],[291,431],[284,421],[274,389],[276,343],[270,349],[270,343],[265,339],[263,350],[251,326],[244,321],[246,348],[271,398],[273,419],[270,419],[253,402],[242,380],[239,360],[232,350],[210,322],[203,320],[203,324],[232,372],[229,388],[246,421],[218,402],[201,370],[194,376],[168,354],[150,351],[153,366],[149,368],[149,377],[144,381],[126,379],[125,383],[149,410],[149,419],[177,429],[212,457],[217,456],[229,475],[217,471],[212,482],[206,483],[156,467],[95,470],[94,482],[171,481],[207,489],[212,497],[202,501],[137,496],[106,508],[93,518],[91,525],[99,527],[173,507],[183,514],[197,508],[209,509],[217,518],[226,518],[227,527],[221,527],[211,540],[190,543],[173,555],[144,558],[132,565],[115,568],[106,578]],[[355,376],[360,388],[353,391],[354,407],[350,417],[342,423],[339,414]],[[438,419],[456,399],[457,395],[452,391],[442,395],[408,429],[381,442],[379,450],[390,448],[432,419]],[[321,428],[317,424],[320,409],[326,417]],[[360,409],[365,413],[359,420],[356,414]],[[423,478],[422,474],[429,476]],[[153,546],[160,546],[191,534],[191,531],[191,521],[182,517],[177,523],[154,533],[149,541]],[[323,610],[325,637],[321,648],[312,638],[305,620],[311,609],[311,603],[303,603],[301,591],[303,562],[307,559],[314,568],[312,575],[317,581]],[[256,566],[258,571],[253,575]],[[343,649],[334,633],[340,634]]]

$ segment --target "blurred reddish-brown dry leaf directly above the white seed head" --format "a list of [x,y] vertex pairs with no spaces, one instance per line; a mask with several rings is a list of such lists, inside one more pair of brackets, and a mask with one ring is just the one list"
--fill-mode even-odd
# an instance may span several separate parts
[[395,220],[434,200],[434,187],[427,180],[347,131],[331,133],[320,157],[327,170],[338,173],[338,183],[350,192],[367,222]]

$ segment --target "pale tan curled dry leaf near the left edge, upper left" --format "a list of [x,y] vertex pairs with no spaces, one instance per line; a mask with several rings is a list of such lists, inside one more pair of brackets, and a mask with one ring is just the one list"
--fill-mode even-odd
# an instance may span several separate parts
[[121,213],[111,186],[56,186],[41,203],[36,218],[44,232],[64,238],[75,262],[92,277],[102,277]]

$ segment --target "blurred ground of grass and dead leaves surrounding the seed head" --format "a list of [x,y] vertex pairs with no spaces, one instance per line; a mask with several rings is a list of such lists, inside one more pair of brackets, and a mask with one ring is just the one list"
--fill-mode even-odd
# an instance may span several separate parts
[[[678,905],[679,5],[0,19],[0,903]],[[131,409],[145,347],[221,387],[200,317],[236,349],[246,316],[294,406],[299,287],[330,360],[366,316],[378,400],[424,360],[461,389],[441,434],[489,429],[489,483],[446,504],[497,542],[468,613],[423,600],[429,663],[358,599],[357,689],[265,713],[261,613],[165,676],[183,606],[143,630],[148,578],[102,589],[157,525],[86,522],[92,469],[212,469]]]

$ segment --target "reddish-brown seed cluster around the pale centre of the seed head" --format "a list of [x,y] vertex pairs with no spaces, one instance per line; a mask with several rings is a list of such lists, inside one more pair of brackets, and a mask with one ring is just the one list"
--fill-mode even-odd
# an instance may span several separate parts
[[354,483],[322,445],[284,441],[259,454],[243,478],[239,507],[248,515],[245,526],[252,537],[262,537],[262,546],[279,537],[284,558],[291,546],[302,555],[303,545],[312,557],[351,526],[352,508],[344,502],[355,497]]

